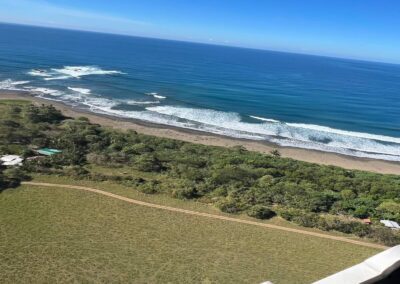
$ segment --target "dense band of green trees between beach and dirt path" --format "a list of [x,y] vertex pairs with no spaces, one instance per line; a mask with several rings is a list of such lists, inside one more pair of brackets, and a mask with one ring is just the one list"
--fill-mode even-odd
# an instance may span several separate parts
[[[242,147],[211,147],[112,130],[86,118],[66,119],[49,106],[8,106],[0,127],[0,153],[30,155],[32,147],[63,150],[60,155],[26,163],[27,172],[114,179],[146,193],[212,202],[228,213],[246,212],[260,219],[278,214],[303,226],[375,239],[379,238],[374,234],[387,231],[379,232],[380,227],[371,231],[355,218],[400,222],[400,176],[305,163],[282,158],[279,152],[264,155]],[[167,177],[169,183],[99,176],[87,165],[130,166]]]

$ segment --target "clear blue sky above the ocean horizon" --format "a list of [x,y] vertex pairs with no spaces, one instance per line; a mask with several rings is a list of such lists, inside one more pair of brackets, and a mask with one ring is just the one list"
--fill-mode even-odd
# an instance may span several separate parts
[[0,21],[400,63],[397,0],[0,0]]

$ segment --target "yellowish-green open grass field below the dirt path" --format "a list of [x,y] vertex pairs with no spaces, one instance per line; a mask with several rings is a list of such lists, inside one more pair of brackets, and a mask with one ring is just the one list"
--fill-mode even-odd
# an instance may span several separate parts
[[0,194],[1,283],[309,283],[377,252],[78,190]]

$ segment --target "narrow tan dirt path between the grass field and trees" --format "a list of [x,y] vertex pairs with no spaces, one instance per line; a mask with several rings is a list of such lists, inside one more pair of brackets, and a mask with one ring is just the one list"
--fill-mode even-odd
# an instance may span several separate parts
[[387,249],[388,248],[383,245],[357,241],[357,240],[353,240],[353,239],[349,239],[349,238],[345,238],[345,237],[331,236],[331,235],[327,235],[327,234],[315,233],[315,232],[310,232],[310,231],[305,231],[305,230],[300,230],[300,229],[293,229],[293,228],[288,228],[288,227],[283,227],[283,226],[278,226],[278,225],[273,225],[273,224],[265,224],[265,223],[254,222],[254,221],[249,221],[249,220],[242,220],[242,219],[231,218],[231,217],[226,217],[226,216],[220,216],[220,215],[202,213],[202,212],[191,211],[191,210],[175,208],[175,207],[170,207],[170,206],[164,206],[164,205],[159,205],[159,204],[153,204],[153,203],[144,202],[144,201],[140,201],[140,200],[136,200],[136,199],[131,199],[131,198],[117,195],[117,194],[114,194],[111,192],[107,192],[107,191],[103,191],[103,190],[99,190],[99,189],[95,189],[95,188],[90,188],[90,187],[85,187],[85,186],[42,183],[42,182],[23,182],[22,184],[33,185],[33,186],[57,187],[57,188],[65,188],[65,189],[79,189],[79,190],[84,190],[84,191],[89,191],[89,192],[105,195],[105,196],[119,199],[119,200],[122,200],[125,202],[129,202],[132,204],[147,206],[147,207],[151,207],[151,208],[157,208],[157,209],[161,209],[161,210],[168,210],[168,211],[172,211],[172,212],[179,212],[179,213],[184,213],[184,214],[189,214],[189,215],[194,215],[194,216],[201,216],[201,217],[219,219],[219,220],[224,220],[224,221],[229,221],[229,222],[254,225],[254,226],[265,227],[265,228],[269,228],[269,229],[275,229],[275,230],[281,230],[281,231],[286,231],[286,232],[291,232],[291,233],[309,235],[309,236],[318,237],[318,238],[341,241],[341,242],[351,243],[351,244],[365,246],[365,247],[371,247],[371,248],[377,248],[377,249]]

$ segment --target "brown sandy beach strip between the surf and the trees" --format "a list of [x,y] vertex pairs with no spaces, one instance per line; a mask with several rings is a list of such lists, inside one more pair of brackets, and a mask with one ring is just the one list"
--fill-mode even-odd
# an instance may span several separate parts
[[198,130],[155,124],[136,119],[121,118],[106,114],[97,114],[87,110],[73,108],[62,102],[34,97],[21,91],[0,91],[0,100],[5,99],[22,99],[29,100],[34,103],[51,104],[68,117],[76,118],[80,116],[85,116],[92,123],[97,123],[115,129],[131,129],[137,131],[138,133],[146,135],[171,138],[185,142],[210,146],[233,147],[241,145],[244,146],[247,150],[261,153],[269,153],[273,149],[278,149],[282,157],[292,158],[299,161],[322,165],[333,165],[345,169],[362,170],[381,174],[400,174],[400,163],[396,162],[375,160],[369,158],[358,158],[310,149],[282,147],[266,141],[239,139],[201,132]]

